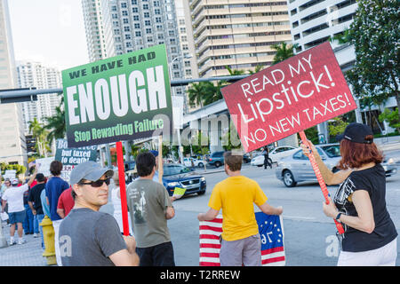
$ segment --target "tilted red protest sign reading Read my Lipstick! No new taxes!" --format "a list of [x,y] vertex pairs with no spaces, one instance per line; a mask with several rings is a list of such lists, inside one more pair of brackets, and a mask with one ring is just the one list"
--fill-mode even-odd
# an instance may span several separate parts
[[356,108],[330,43],[221,91],[246,152]]

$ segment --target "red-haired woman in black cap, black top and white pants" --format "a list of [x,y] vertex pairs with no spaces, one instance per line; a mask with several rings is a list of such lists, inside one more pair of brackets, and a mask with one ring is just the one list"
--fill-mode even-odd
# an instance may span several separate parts
[[[316,147],[308,141],[327,185],[339,185],[333,202],[324,203],[324,214],[338,220],[340,235],[338,266],[396,265],[397,232],[386,208],[386,176],[383,156],[373,143],[372,130],[350,123],[340,140],[340,171],[332,173]],[[310,149],[302,145],[303,153]]]

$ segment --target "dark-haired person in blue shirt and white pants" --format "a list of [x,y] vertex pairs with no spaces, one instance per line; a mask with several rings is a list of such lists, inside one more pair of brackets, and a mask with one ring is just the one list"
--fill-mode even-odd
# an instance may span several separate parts
[[45,185],[45,193],[47,204],[50,207],[50,219],[54,228],[54,248],[56,253],[57,264],[61,266],[60,247],[59,247],[59,229],[62,218],[57,214],[57,205],[61,193],[68,189],[68,183],[60,177],[62,170],[62,163],[60,161],[53,161],[50,164],[50,172],[52,177],[49,178]]

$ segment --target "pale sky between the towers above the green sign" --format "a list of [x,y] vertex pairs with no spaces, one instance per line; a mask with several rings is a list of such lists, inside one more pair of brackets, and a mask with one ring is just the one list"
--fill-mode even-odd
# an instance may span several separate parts
[[89,63],[81,0],[8,0],[14,56],[60,71]]

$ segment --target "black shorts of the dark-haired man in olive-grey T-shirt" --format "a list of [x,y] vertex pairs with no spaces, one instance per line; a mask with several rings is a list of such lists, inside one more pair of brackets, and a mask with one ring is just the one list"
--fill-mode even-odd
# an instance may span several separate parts
[[164,242],[154,247],[136,248],[140,266],[175,266],[172,242]]

